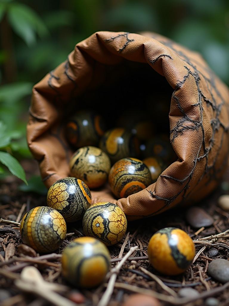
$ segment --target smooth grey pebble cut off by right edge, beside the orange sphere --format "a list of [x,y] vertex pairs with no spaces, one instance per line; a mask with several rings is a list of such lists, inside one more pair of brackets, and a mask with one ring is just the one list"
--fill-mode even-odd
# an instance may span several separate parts
[[208,274],[221,283],[229,282],[229,261],[215,259],[209,263]]

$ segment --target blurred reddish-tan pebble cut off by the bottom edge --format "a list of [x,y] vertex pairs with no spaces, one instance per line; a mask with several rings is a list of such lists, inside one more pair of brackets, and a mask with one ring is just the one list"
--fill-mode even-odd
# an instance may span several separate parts
[[122,306],[161,306],[162,304],[155,299],[144,294],[131,294]]

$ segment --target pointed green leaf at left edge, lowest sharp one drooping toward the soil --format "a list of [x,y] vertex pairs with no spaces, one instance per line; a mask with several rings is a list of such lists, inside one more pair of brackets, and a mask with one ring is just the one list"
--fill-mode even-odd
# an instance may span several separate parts
[[27,184],[24,169],[12,155],[10,155],[7,152],[1,151],[0,162],[3,165],[5,165],[13,175],[20,178],[22,181],[24,181]]

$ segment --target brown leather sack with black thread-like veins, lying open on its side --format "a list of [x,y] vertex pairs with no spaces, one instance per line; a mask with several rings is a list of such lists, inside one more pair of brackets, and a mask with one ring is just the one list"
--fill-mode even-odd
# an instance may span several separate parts
[[[227,166],[229,91],[198,53],[154,33],[91,35],[75,46],[67,61],[34,86],[27,141],[47,187],[69,176],[73,152],[64,137],[64,114],[73,103],[79,105],[78,97],[109,80],[118,96],[118,88],[125,84],[118,84],[120,74],[114,77],[112,69],[129,61],[148,64],[145,66],[154,73],[150,86],[138,88],[142,95],[154,92],[158,74],[171,86],[170,142],[178,157],[156,183],[128,198],[116,201],[107,187],[92,191],[93,203],[117,202],[133,220],[178,203],[201,200],[216,187]],[[98,109],[104,108],[104,103],[96,103]]]

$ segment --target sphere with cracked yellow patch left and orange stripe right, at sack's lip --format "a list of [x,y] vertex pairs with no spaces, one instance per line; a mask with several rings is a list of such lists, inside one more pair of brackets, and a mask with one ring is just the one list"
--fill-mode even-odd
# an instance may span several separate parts
[[59,211],[67,222],[81,219],[90,204],[91,192],[88,186],[75,177],[56,181],[47,194],[47,205]]

